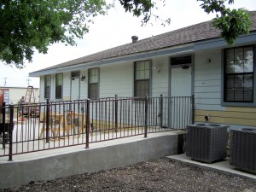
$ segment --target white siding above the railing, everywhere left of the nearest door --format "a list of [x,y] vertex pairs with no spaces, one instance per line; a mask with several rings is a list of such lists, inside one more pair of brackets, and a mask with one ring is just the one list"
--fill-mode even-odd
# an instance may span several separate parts
[[[100,97],[134,96],[134,61],[111,64],[100,68]],[[158,70],[160,69],[160,70]],[[88,69],[80,71],[85,76],[80,81],[80,99],[88,96]],[[63,73],[63,100],[70,100],[70,72]],[[151,94],[152,96],[168,96],[169,91],[169,57],[158,57],[152,60]],[[40,80],[41,102],[44,100],[44,76]],[[55,101],[55,75],[51,75],[50,100]]]

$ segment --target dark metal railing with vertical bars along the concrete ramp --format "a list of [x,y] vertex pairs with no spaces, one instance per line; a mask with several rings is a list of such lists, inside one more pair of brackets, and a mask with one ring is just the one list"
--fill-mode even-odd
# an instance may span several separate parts
[[[0,107],[0,157],[103,142],[193,123],[193,97],[108,97]],[[0,146],[1,146],[0,145]]]

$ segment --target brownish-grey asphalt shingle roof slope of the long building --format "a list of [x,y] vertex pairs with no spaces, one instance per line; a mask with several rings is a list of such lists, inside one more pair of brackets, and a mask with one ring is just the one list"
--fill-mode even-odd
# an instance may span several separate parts
[[[251,20],[253,22],[250,27],[250,31],[256,31],[256,11],[251,11]],[[70,67],[79,64],[86,64],[90,61],[102,61],[111,58],[139,54],[148,51],[153,51],[157,49],[170,48],[177,45],[189,44],[198,42],[201,40],[207,40],[211,38],[218,38],[220,31],[212,26],[212,20],[195,24],[193,26],[183,27],[172,32],[166,32],[152,38],[144,38],[138,40],[137,43],[124,44],[111,49],[106,49],[101,52],[97,52],[92,55],[86,55],[78,59],[63,62],[61,64],[55,65],[53,67],[47,67],[39,71]]]

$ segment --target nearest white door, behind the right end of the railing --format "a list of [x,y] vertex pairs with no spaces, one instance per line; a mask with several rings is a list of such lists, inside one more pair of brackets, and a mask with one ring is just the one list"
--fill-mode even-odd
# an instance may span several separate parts
[[186,128],[190,113],[190,98],[181,96],[191,96],[191,67],[172,68],[171,73],[171,128]]

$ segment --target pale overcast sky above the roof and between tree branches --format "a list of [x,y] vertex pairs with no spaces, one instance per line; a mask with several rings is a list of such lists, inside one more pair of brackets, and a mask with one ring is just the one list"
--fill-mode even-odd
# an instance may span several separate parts
[[[212,20],[215,14],[207,15],[201,9],[200,4],[196,0],[166,0],[166,6],[163,7],[160,3],[158,5],[159,9],[154,10],[153,13],[160,15],[160,18],[163,19],[171,18],[171,24],[164,27],[160,25],[160,20],[154,20],[154,18],[146,26],[141,26],[141,18],[125,13],[125,9],[122,9],[119,2],[116,1],[115,8],[109,10],[108,15],[99,15],[94,19],[94,24],[90,26],[89,33],[86,33],[83,39],[76,40],[77,46],[53,44],[49,46],[46,55],[35,52],[32,62],[28,63],[26,61],[26,67],[21,70],[6,66],[0,61],[0,86],[27,87],[31,85],[39,87],[39,79],[29,78],[28,73],[121,44],[130,44],[133,35],[137,35],[138,40],[140,40]],[[256,3],[255,0],[235,0],[235,4],[229,7],[256,10]]]

